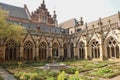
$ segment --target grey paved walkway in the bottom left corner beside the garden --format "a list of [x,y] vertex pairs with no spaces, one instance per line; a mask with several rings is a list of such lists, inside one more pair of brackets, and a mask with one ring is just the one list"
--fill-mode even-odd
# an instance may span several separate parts
[[9,74],[7,71],[5,71],[3,68],[0,67],[0,75],[4,78],[4,80],[17,80],[14,78],[13,75]]

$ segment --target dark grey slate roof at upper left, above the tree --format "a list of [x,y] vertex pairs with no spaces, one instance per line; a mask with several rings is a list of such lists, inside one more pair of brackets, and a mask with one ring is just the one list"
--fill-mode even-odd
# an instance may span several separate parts
[[25,10],[25,8],[16,7],[16,6],[8,5],[5,3],[0,3],[0,6],[4,10],[9,11],[9,16],[11,16],[11,17],[29,19],[27,10]]

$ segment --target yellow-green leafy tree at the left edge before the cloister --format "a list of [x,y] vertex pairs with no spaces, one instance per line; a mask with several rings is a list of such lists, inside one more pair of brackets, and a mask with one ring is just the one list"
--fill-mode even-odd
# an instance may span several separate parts
[[19,42],[24,33],[23,27],[7,22],[8,12],[0,9],[0,41],[1,44],[5,39],[14,39]]

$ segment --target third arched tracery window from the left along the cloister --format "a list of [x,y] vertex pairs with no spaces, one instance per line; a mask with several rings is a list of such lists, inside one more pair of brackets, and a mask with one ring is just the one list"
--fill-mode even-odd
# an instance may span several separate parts
[[47,45],[45,42],[41,42],[39,45],[39,59],[40,60],[45,60],[47,54]]

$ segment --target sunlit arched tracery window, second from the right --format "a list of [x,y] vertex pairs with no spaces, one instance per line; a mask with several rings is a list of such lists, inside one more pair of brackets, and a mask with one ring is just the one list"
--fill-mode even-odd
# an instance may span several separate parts
[[91,43],[92,58],[100,58],[99,43],[95,39]]

